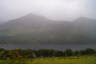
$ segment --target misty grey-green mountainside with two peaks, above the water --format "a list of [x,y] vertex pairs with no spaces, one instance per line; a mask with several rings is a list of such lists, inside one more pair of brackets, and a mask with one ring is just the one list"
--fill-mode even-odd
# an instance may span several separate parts
[[14,44],[92,44],[96,20],[53,21],[28,14],[0,25],[0,41]]

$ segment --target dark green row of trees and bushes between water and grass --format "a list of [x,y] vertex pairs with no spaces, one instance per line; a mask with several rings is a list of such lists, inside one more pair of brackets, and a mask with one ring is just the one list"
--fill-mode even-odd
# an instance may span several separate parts
[[96,54],[95,49],[87,48],[85,50],[66,49],[64,51],[52,50],[52,49],[14,49],[6,50],[0,49],[0,59],[16,59],[16,58],[40,58],[40,57],[65,57],[65,56],[80,56]]

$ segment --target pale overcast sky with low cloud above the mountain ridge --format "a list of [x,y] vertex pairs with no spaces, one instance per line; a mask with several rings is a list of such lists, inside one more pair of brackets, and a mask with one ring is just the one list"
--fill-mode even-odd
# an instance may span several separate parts
[[33,13],[52,20],[96,18],[96,0],[0,0],[0,22]]

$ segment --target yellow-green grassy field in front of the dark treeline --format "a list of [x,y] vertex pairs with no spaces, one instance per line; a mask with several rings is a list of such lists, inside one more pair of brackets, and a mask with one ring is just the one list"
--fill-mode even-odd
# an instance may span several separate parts
[[0,64],[96,64],[96,55],[59,58],[0,60]]

